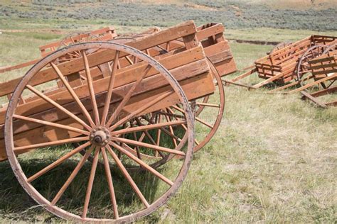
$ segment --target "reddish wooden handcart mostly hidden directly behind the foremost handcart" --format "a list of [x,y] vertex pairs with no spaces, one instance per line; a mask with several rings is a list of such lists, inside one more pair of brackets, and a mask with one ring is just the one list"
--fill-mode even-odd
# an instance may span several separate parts
[[[223,88],[221,77],[236,71],[235,60],[232,56],[230,46],[228,45],[228,40],[226,40],[223,35],[224,30],[225,28],[221,23],[208,23],[197,28],[196,38],[203,46],[203,50],[208,60],[208,65],[210,65],[210,69],[212,70],[216,90],[211,99],[212,103],[208,102],[210,101],[210,96],[205,96],[203,99],[199,99],[196,102],[196,126],[202,131],[198,131],[198,133],[195,135],[195,152],[200,150],[203,146],[205,146],[206,143],[208,143],[213,138],[223,118],[225,108],[225,90]],[[158,33],[159,31],[160,29],[156,27],[149,28],[149,30],[145,30],[141,33],[118,35],[117,37],[112,38],[109,41],[114,43],[124,43],[127,45],[134,40],[139,40],[139,38],[144,38],[148,35]],[[80,36],[75,36],[74,39],[80,39]],[[56,48],[58,47],[54,47],[54,49]],[[186,50],[183,38],[177,38],[176,40],[169,40],[166,41],[166,43],[146,48],[145,50],[143,50],[143,52],[147,55],[150,55],[151,57],[160,57],[160,55],[164,55],[166,53],[174,54],[183,50]],[[119,62],[118,66],[126,67],[132,65],[135,62],[137,61],[134,57],[126,57],[124,60],[121,60]],[[100,66],[100,72],[104,73],[105,69],[106,67],[104,67],[103,65]],[[72,80],[72,82],[81,83],[80,77],[82,77],[83,79],[84,76],[77,74],[77,76],[73,75],[70,79]],[[179,113],[181,113],[181,109],[177,108],[176,106],[171,106],[170,108],[164,108],[161,111],[161,115],[152,114],[148,116],[152,117],[151,119],[149,119],[152,123],[156,123],[162,120],[176,120],[176,113],[178,113],[179,116]],[[186,129],[184,125],[180,126],[181,128]],[[175,135],[174,128],[170,128],[170,132],[171,135]],[[159,130],[159,133],[157,133],[157,135],[161,135],[161,130]],[[139,140],[146,140],[146,136],[149,136],[149,134],[142,133],[139,137]],[[156,136],[156,138],[159,137]],[[173,138],[172,141],[173,144],[177,144],[176,138]],[[157,154],[156,156],[158,157],[160,155]]]

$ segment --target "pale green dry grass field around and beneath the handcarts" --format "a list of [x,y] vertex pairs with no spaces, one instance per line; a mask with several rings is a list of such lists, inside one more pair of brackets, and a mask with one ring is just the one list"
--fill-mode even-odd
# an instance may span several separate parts
[[[101,19],[92,23],[80,21],[76,28],[98,28],[107,23]],[[45,23],[34,18],[1,18],[0,26],[3,32],[0,34],[0,67],[33,60],[39,56],[39,45],[57,40],[76,29],[60,28],[56,21]],[[146,28],[120,24],[115,27],[118,32]],[[230,28],[225,35],[241,40],[282,41],[299,40],[311,33],[317,32]],[[321,31],[321,34],[337,35],[336,30]],[[270,45],[235,42],[230,46],[239,69],[251,65],[272,48]],[[23,72],[0,74],[0,80],[21,76]],[[250,77],[249,82],[255,83],[258,79]],[[299,94],[271,95],[265,94],[266,91],[267,88],[247,91],[236,86],[226,87],[225,115],[215,138],[193,157],[188,177],[178,194],[140,222],[337,222],[337,109],[317,108],[301,101]],[[43,150],[34,155],[41,161],[57,156],[58,150]],[[177,164],[171,161],[164,168],[165,172],[173,172]],[[34,165],[36,167],[31,169],[38,169],[43,167],[43,162]],[[69,162],[63,167],[63,172],[69,172],[72,167],[73,163]],[[62,179],[63,172],[54,172],[50,181]],[[120,187],[127,185],[120,179]],[[72,191],[76,191],[75,186]],[[158,185],[155,192],[149,194],[159,194],[160,191]],[[99,195],[95,197],[97,203],[103,199]],[[106,211],[97,211],[100,212]],[[16,181],[9,162],[1,162],[0,223],[9,221],[40,223],[64,220],[36,206]]]

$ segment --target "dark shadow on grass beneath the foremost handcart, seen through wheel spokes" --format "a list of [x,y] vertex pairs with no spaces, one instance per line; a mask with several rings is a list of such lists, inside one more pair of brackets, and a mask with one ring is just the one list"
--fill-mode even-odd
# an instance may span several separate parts
[[[53,161],[50,159],[26,159],[20,162],[26,176],[30,177]],[[64,162],[33,181],[32,184],[40,194],[51,201],[73,172],[77,163],[78,161],[76,160]],[[90,169],[91,163],[86,162],[60,198],[60,201],[58,201],[57,206],[77,215],[82,214]],[[144,208],[122,172],[116,167],[111,167],[111,169],[119,216],[134,213]],[[159,172],[161,171],[159,170]],[[157,190],[162,189],[158,186],[159,179],[143,170],[130,171],[129,174],[134,179],[141,193],[144,194],[146,200],[149,203],[155,201],[156,194],[158,193]],[[35,207],[35,201],[26,194],[26,191],[18,183],[9,162],[0,162],[0,216],[6,217],[7,215],[11,220],[34,221],[36,220],[35,215],[45,213],[42,208]],[[53,215],[50,215],[50,217],[53,218]],[[102,165],[97,167],[87,217],[114,217],[105,169]]]

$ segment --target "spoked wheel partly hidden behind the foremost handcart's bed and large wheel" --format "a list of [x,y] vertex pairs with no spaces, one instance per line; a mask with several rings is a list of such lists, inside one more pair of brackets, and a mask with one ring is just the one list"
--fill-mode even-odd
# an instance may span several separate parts
[[[194,152],[200,150],[203,146],[205,146],[215,135],[218,130],[221,120],[223,118],[224,108],[225,108],[225,90],[224,86],[221,82],[220,74],[218,73],[215,66],[208,60],[208,65],[210,65],[210,69],[213,73],[214,83],[215,83],[215,94],[212,96],[205,96],[202,99],[198,99],[197,101],[190,102],[195,108],[195,146],[193,148]],[[208,103],[211,101],[211,103]],[[174,106],[170,106],[169,108],[162,108],[159,111],[155,111],[154,113],[148,114],[147,116],[142,116],[141,118],[137,118],[137,121],[134,121],[134,125],[142,125],[143,123],[163,123],[163,122],[172,122],[172,121],[180,121],[184,118],[184,112],[181,105],[177,104]],[[137,140],[156,141],[158,144],[167,138],[163,138],[163,135],[170,135],[169,140],[171,140],[171,144],[177,145],[181,139],[181,135],[187,135],[186,133],[186,125],[177,124],[169,127],[169,130],[163,130],[162,128],[156,129],[156,131],[151,133],[146,133],[145,131],[138,136]],[[167,136],[166,136],[167,137]],[[134,139],[137,137],[134,135]],[[183,138],[184,139],[184,138]],[[186,139],[186,138],[185,138]],[[134,155],[137,154],[137,147],[133,149]],[[161,157],[161,155],[156,152],[156,154],[142,154],[142,157]],[[162,159],[160,162],[154,164],[156,167],[167,162],[168,159]],[[129,167],[135,168],[135,167]]]

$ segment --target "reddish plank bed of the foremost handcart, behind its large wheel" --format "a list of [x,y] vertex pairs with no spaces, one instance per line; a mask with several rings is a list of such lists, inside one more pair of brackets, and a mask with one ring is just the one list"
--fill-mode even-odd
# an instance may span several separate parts
[[[152,47],[156,47],[157,45],[161,45],[167,43],[172,40],[177,40],[183,38],[184,45],[186,50],[176,53],[170,53],[166,55],[160,55],[159,62],[161,62],[166,69],[169,69],[173,77],[175,77],[179,84],[183,87],[186,95],[189,100],[198,99],[203,96],[207,96],[212,94],[214,91],[213,79],[209,71],[208,63],[205,58],[205,54],[203,52],[203,47],[198,45],[196,41],[196,26],[193,22],[183,23],[179,26],[175,26],[173,28],[169,28],[167,30],[162,30],[158,33],[154,33],[153,35],[148,35],[144,38],[140,38],[138,40],[134,40],[132,42],[126,43],[126,45],[137,47],[139,50],[150,49]],[[88,55],[87,58],[90,62],[90,70],[92,71],[92,76],[100,77],[97,78],[94,82],[94,89],[97,98],[97,104],[100,108],[102,108],[104,99],[102,98],[101,89],[106,89],[107,87],[107,77],[102,69],[100,69],[100,65],[104,65],[110,60],[114,59],[114,52],[109,50],[98,50],[97,52]],[[124,61],[128,61],[128,55],[120,55],[120,57],[124,57]],[[70,62],[64,62],[57,65],[60,72],[62,72],[65,77],[77,74],[78,72],[82,72],[85,70],[82,59],[75,59]],[[139,73],[144,69],[144,65],[141,62],[137,63],[129,63],[129,65],[125,65],[121,69],[119,69],[119,73],[116,74],[116,81],[114,85],[114,93],[112,96],[113,101],[112,109],[114,103],[117,103],[122,100],[123,96],[130,88],[132,82],[134,82],[137,77],[135,74]],[[137,91],[132,95],[132,99],[127,104],[127,109],[124,111],[125,115],[139,106],[144,105],[144,103],[151,101],[151,99],[155,99],[157,96],[165,93],[167,91],[166,82],[164,79],[159,79],[160,77],[156,77],[156,72],[149,72],[147,74],[144,81],[146,81],[146,85],[142,85],[141,88],[137,89]],[[31,86],[38,86],[39,84],[46,84],[48,82],[55,82],[58,79],[58,76],[55,74],[55,71],[52,67],[48,69],[44,69],[39,72],[36,77],[31,81]],[[14,88],[18,82],[20,82],[21,78],[10,80],[9,82],[0,84],[0,96],[6,96],[11,94],[14,91]],[[200,88],[203,86],[203,88]],[[77,96],[80,97],[82,103],[90,110],[90,100],[88,99],[88,89],[85,82],[82,81],[82,84],[78,84],[74,88]],[[50,91],[49,93],[45,93],[50,99],[53,99],[55,102],[64,106],[65,108],[72,108],[75,110],[75,103],[72,101],[72,98],[68,91],[64,88],[58,88],[56,90]],[[24,103],[22,103],[18,108],[16,108],[17,113],[23,114],[25,116],[31,116],[32,118],[48,118],[48,121],[54,123],[61,123],[64,125],[70,125],[76,128],[81,128],[78,126],[78,123],[74,123],[74,121],[70,118],[66,118],[63,113],[52,108],[50,104],[43,101],[43,99],[24,99]],[[145,112],[156,111],[160,108],[165,108],[167,106],[171,106],[176,103],[176,99],[173,97],[167,97],[165,101],[160,101],[156,103],[155,106],[147,109]],[[4,150],[4,117],[6,113],[6,108],[0,109],[0,159],[6,159],[6,152]],[[79,117],[80,111],[77,111]],[[73,132],[64,132],[59,131],[55,128],[50,128],[50,130],[46,130],[46,127],[43,125],[37,125],[36,123],[32,123],[31,125],[22,125],[21,121],[17,121],[14,125],[16,128],[16,142],[15,145],[18,147],[17,153],[23,153],[27,150],[19,150],[20,145],[28,145],[28,144],[38,144],[39,142],[46,142],[59,140],[64,138],[74,138],[78,133]],[[41,126],[43,126],[41,128]]]

